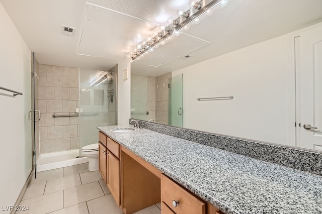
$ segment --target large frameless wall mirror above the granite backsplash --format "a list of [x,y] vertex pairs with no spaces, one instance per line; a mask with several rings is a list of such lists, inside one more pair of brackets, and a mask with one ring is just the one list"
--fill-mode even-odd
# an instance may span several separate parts
[[131,117],[322,151],[321,11],[320,0],[214,8],[132,62]]

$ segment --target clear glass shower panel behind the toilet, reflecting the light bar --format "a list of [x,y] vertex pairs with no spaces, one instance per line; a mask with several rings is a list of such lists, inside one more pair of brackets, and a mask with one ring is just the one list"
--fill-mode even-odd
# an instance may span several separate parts
[[116,73],[79,69],[79,155],[98,142],[97,127],[116,125]]

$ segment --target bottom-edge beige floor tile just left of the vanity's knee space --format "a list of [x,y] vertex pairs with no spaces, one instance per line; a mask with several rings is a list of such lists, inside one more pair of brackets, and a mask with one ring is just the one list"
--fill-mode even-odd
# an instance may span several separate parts
[[96,198],[94,200],[87,201],[90,213],[95,214],[121,214],[123,211],[114,201],[111,194],[103,197]]

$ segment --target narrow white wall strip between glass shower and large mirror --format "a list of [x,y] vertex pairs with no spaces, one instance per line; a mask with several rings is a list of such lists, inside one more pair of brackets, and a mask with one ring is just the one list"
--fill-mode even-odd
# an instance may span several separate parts
[[[128,79],[123,80],[123,71],[127,69]],[[131,60],[124,59],[118,63],[117,74],[117,115],[118,125],[129,125],[131,118]]]

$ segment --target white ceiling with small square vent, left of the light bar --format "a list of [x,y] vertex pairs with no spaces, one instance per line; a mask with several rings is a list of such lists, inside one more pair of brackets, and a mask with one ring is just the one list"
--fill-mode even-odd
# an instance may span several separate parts
[[[123,48],[113,50],[115,56],[103,56],[104,58],[77,55],[79,39],[81,38],[80,30],[84,24],[83,18],[87,2],[158,24],[166,22],[170,15],[175,16],[177,9],[187,4],[187,1],[182,0],[0,0],[29,49],[35,52],[39,63],[109,70],[125,58],[129,47],[123,46]],[[113,21],[115,22],[115,20]],[[106,20],[104,27],[114,24],[111,20]],[[61,25],[75,28],[74,36],[62,35]],[[122,28],[125,27],[118,26],[118,29]],[[114,32],[113,36],[118,37],[117,40],[112,41],[111,38],[106,37],[103,44],[99,46],[93,44],[93,49],[109,49],[109,46],[106,47],[104,44],[112,43],[114,46],[118,43],[119,47],[126,45],[128,40],[125,39],[128,38],[124,39],[121,35],[115,35],[116,30],[111,28],[111,35]],[[132,40],[137,37],[135,30],[135,26],[126,27],[127,33],[132,36]],[[100,37],[100,35],[97,35],[97,37]]]

